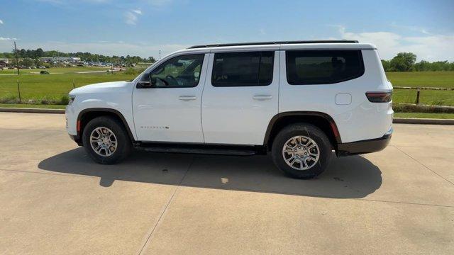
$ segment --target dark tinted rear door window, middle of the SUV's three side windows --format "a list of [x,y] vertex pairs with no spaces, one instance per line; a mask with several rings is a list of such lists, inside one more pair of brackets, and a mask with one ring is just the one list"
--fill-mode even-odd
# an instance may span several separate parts
[[213,86],[267,86],[275,52],[228,52],[214,55]]

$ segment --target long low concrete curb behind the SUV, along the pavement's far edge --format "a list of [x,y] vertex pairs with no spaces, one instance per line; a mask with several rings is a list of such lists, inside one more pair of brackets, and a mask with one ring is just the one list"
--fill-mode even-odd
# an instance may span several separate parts
[[[40,109],[40,108],[0,108],[0,112],[6,113],[57,113],[64,114],[63,109]],[[401,124],[431,124],[431,125],[454,125],[452,119],[423,119],[423,118],[394,118],[392,123]]]

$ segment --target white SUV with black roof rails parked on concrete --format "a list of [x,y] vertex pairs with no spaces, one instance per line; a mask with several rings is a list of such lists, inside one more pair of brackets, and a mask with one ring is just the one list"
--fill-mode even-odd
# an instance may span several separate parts
[[133,81],[73,89],[67,132],[94,161],[131,149],[266,154],[286,174],[320,174],[392,135],[392,85],[375,46],[356,41],[199,45]]

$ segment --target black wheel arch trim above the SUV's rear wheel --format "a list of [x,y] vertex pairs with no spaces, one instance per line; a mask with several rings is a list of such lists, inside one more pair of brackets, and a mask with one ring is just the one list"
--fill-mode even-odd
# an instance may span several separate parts
[[293,123],[309,123],[320,128],[328,136],[331,145],[336,151],[338,149],[337,145],[342,142],[336,122],[330,115],[315,111],[290,111],[273,116],[265,132],[263,145],[270,150],[277,133],[282,128]]

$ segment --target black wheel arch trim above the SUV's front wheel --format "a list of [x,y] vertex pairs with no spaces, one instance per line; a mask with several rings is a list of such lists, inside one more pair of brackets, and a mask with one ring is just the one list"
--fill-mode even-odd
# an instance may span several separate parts
[[124,118],[121,112],[111,108],[87,108],[80,111],[79,115],[77,115],[77,137],[79,138],[80,142],[82,142],[82,132],[84,131],[87,123],[89,123],[89,121],[93,120],[94,118],[106,115],[120,120],[120,122],[123,123],[123,126],[126,128],[131,142],[135,142],[133,132],[131,132],[131,128],[129,128],[126,118]]

